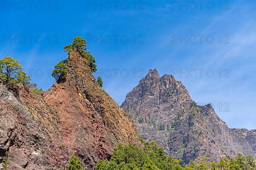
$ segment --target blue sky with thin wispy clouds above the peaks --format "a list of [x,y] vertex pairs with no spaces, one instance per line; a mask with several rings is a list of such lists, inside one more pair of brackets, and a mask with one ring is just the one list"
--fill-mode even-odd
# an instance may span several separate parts
[[254,1],[0,3],[0,57],[18,59],[39,88],[52,86],[64,45],[81,36],[119,105],[157,68],[182,81],[195,102],[212,103],[229,127],[256,129]]

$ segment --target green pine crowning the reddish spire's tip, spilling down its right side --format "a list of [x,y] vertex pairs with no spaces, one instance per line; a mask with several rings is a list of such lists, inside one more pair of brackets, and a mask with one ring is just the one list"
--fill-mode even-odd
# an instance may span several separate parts
[[96,60],[95,58],[90,54],[89,51],[86,51],[86,40],[84,40],[82,37],[75,37],[72,44],[70,45],[66,45],[64,47],[64,51],[68,52],[70,54],[70,52],[72,50],[78,51],[82,57],[84,57],[87,62],[88,65],[91,69],[92,72],[96,72],[97,71],[97,66],[95,64]]

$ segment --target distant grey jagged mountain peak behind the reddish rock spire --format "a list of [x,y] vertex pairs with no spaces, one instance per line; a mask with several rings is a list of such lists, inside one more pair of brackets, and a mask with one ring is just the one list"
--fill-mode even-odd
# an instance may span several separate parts
[[122,103],[146,141],[189,163],[203,156],[219,160],[236,153],[256,157],[256,130],[229,129],[211,105],[198,106],[172,75],[149,70]]

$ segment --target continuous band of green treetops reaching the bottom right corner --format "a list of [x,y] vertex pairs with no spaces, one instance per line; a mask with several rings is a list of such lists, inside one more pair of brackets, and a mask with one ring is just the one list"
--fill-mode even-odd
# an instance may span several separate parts
[[[119,144],[109,161],[98,161],[96,170],[256,170],[253,157],[244,157],[241,153],[238,153],[235,159],[222,158],[219,162],[211,162],[203,157],[198,164],[190,161],[187,166],[181,166],[182,160],[166,156],[163,148],[158,148],[156,142],[142,142],[144,150],[132,144]],[[183,150],[183,147],[180,150]]]

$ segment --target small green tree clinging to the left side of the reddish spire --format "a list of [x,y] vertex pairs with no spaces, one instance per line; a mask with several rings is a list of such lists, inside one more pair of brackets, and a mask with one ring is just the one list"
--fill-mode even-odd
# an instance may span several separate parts
[[55,65],[54,70],[52,71],[52,77],[55,78],[56,81],[61,81],[66,78],[67,75],[67,60],[63,60]]

